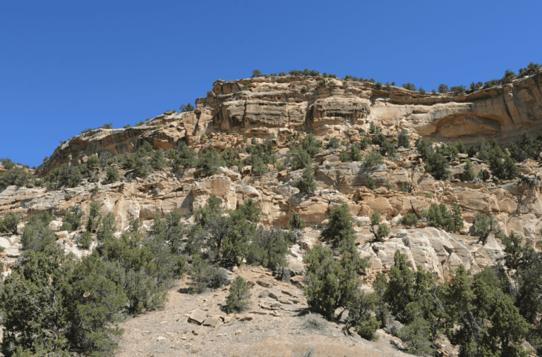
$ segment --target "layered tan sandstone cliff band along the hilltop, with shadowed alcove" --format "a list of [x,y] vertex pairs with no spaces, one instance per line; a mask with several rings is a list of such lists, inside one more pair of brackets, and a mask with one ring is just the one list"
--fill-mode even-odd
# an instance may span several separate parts
[[[64,164],[85,162],[93,154],[126,154],[144,142],[167,150],[179,139],[195,142],[201,134],[234,130],[248,137],[273,133],[287,137],[303,126],[319,135],[347,135],[373,122],[389,130],[405,128],[436,140],[461,139],[470,144],[480,136],[510,142],[529,130],[542,132],[542,72],[503,87],[469,94],[422,95],[399,87],[391,91],[371,83],[323,77],[258,77],[218,80],[207,97],[195,101],[192,113],[164,113],[145,125],[126,129],[97,129],[61,144],[39,172]],[[358,135],[359,136],[359,135]]]

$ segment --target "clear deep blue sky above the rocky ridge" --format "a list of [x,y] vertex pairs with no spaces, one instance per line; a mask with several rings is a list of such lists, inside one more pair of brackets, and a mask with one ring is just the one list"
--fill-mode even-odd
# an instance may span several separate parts
[[0,158],[303,68],[426,90],[542,62],[542,1],[1,1]]

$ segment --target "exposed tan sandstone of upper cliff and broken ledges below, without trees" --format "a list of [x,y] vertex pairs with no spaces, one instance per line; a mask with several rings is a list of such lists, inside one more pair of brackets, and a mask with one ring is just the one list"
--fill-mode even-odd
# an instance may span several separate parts
[[[524,129],[537,133],[542,128],[541,72],[518,78],[504,87],[461,96],[421,95],[398,87],[387,92],[372,89],[368,83],[343,84],[335,79],[322,86],[318,84],[321,80],[322,77],[303,80],[296,76],[218,80],[207,97],[196,100],[194,112],[168,112],[139,127],[80,134],[61,144],[37,168],[37,174],[44,175],[61,165],[84,163],[94,154],[128,154],[144,142],[167,150],[185,140],[196,151],[231,148],[239,151],[242,158],[248,156],[244,154],[243,136],[263,142],[274,134],[272,142],[277,155],[286,157],[291,155],[289,147],[294,144],[289,137],[303,127],[324,143],[330,137],[357,142],[361,139],[359,129],[368,131],[373,122],[391,136],[404,128],[412,143],[423,136],[435,141],[461,139],[465,144],[474,142],[479,135],[507,142],[516,139]],[[302,132],[295,142],[300,142],[304,135]],[[366,154],[376,147],[369,145]],[[69,206],[80,205],[88,214],[90,202],[99,202],[102,212],[114,213],[120,234],[133,218],[143,219],[145,227],[150,227],[155,216],[171,211],[181,213],[183,223],[189,225],[193,223],[193,212],[204,206],[210,195],[222,198],[228,209],[252,197],[263,211],[263,225],[285,228],[292,211],[306,221],[303,238],[287,256],[289,268],[302,273],[303,251],[319,241],[331,209],[347,203],[358,223],[355,229],[359,253],[371,262],[366,289],[371,289],[369,283],[375,273],[389,271],[397,249],[406,254],[411,268],[421,265],[432,271],[439,282],[447,280],[450,270],[459,264],[476,273],[486,265],[498,263],[503,254],[500,239],[490,235],[482,244],[478,237],[469,234],[478,212],[495,215],[505,234],[513,230],[540,249],[542,169],[538,162],[522,164],[525,175],[533,177],[534,184],[521,180],[473,183],[454,179],[462,174],[465,157],[451,162],[452,180],[438,181],[425,172],[416,149],[399,148],[398,154],[395,162],[385,161],[368,169],[361,162],[342,163],[337,150],[324,149],[313,158],[313,163],[318,163],[314,170],[318,188],[312,195],[299,194],[295,187],[301,170],[279,171],[276,165],[269,165],[270,172],[260,176],[253,175],[249,167],[222,168],[221,174],[199,180],[193,175],[194,169],[166,168],[131,182],[121,180],[113,184],[102,181],[105,169],[101,168],[97,192],[93,190],[96,184],[89,182],[56,191],[7,187],[0,192],[0,215],[16,212],[24,221],[29,215],[49,211],[56,217],[51,227],[56,230],[57,243],[66,253],[83,256],[95,244],[90,250],[78,249],[74,238],[80,231],[59,231]],[[476,174],[487,169],[476,160],[473,166]],[[376,180],[377,189],[366,187],[368,177]],[[399,190],[403,184],[411,188],[410,192]],[[431,203],[445,203],[449,208],[457,203],[466,221],[464,229],[452,234],[424,225],[398,224],[403,215],[420,215]],[[391,228],[383,243],[372,242],[369,217],[374,211],[383,215]],[[0,236],[0,246],[5,248],[0,253],[4,275],[20,255],[19,239],[18,234]]]

